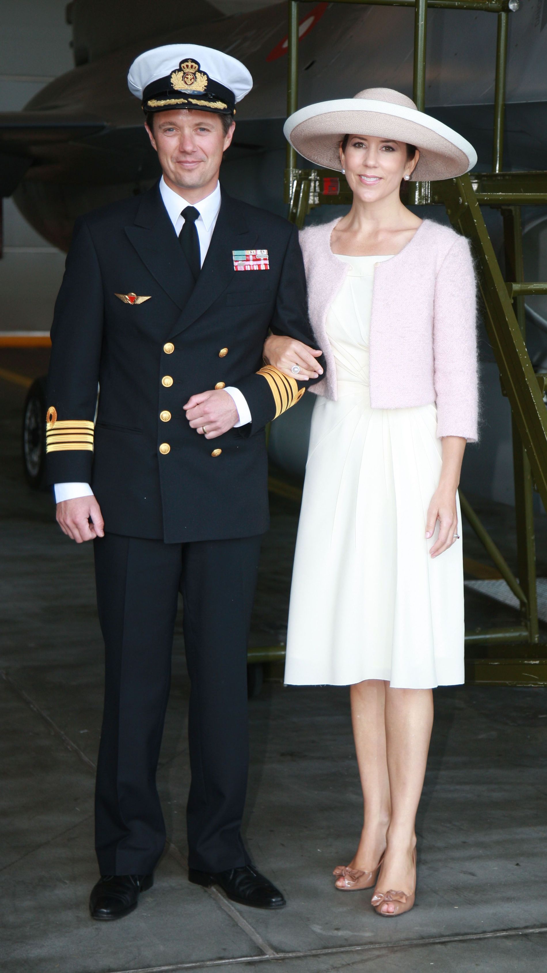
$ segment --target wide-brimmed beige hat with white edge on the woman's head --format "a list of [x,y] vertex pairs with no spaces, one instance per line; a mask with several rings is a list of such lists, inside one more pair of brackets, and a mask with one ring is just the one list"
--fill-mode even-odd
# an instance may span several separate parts
[[415,180],[453,179],[477,162],[465,138],[390,88],[366,88],[352,98],[300,108],[287,119],[283,132],[301,156],[329,169],[342,169],[339,146],[345,135],[376,135],[416,145],[419,162],[411,175]]

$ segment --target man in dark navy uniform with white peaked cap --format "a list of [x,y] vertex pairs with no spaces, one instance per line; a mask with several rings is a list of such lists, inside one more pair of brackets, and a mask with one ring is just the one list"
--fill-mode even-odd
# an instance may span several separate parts
[[48,391],[56,518],[94,541],[106,648],[91,916],[134,909],[164,851],[156,770],[179,591],[189,878],[274,909],[283,896],[240,834],[246,651],[269,525],[265,426],[305,390],[264,366],[262,347],[269,329],[312,343],[302,254],[294,227],[219,187],[235,105],[252,86],[239,61],[168,45],[137,57],[128,84],[164,174],[77,220]]

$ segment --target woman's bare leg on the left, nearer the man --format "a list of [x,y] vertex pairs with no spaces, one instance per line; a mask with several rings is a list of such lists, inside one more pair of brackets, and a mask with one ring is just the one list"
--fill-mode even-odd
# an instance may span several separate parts
[[385,686],[367,679],[350,688],[351,722],[363,788],[363,830],[350,868],[372,872],[385,848],[390,818],[389,777],[385,753]]

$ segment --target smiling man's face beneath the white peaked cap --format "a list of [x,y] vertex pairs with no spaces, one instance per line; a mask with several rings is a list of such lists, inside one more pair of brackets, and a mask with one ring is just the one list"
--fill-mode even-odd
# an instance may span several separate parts
[[222,120],[212,112],[158,112],[150,141],[158,153],[167,184],[201,189],[218,178],[222,155],[230,145],[235,124],[224,134]]

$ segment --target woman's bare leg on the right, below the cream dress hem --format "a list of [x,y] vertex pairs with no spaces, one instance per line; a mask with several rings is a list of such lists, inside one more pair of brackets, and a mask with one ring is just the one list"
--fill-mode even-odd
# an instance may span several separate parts
[[[391,817],[387,847],[377,888],[412,892],[415,888],[413,851],[431,728],[433,694],[430,689],[385,687],[385,739]],[[393,912],[392,903],[383,912]]]

